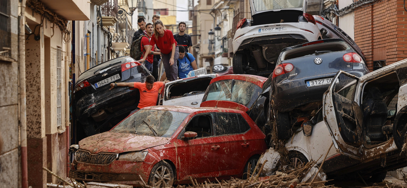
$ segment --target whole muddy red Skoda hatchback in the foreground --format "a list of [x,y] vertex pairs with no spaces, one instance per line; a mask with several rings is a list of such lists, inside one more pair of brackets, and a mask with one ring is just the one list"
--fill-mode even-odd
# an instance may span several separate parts
[[189,183],[191,177],[241,178],[266,150],[264,139],[243,111],[146,107],[109,132],[81,140],[69,177],[154,187]]

